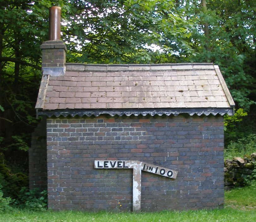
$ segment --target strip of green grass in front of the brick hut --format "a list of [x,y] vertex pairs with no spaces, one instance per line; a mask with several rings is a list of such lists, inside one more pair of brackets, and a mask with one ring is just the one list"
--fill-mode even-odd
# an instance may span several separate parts
[[256,186],[225,191],[225,207],[215,210],[158,213],[32,212],[15,209],[0,214],[0,222],[256,222]]

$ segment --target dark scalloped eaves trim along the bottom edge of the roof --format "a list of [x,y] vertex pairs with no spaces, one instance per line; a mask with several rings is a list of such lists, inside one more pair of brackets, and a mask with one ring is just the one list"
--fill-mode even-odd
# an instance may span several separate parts
[[48,117],[67,117],[67,116],[99,116],[102,114],[108,114],[110,116],[138,116],[138,115],[174,115],[177,116],[178,114],[189,114],[190,116],[193,115],[233,115],[234,111],[233,108],[161,108],[161,109],[63,109],[63,110],[38,110],[38,115],[46,115]]

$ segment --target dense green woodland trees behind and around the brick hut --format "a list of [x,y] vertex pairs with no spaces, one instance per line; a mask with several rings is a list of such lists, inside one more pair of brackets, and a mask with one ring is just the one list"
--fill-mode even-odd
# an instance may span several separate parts
[[234,117],[224,117],[225,146],[255,134],[255,1],[1,1],[0,164],[15,195],[22,185],[17,169],[27,168],[38,122],[40,45],[47,41],[52,5],[62,10],[67,62],[218,64],[237,108]]

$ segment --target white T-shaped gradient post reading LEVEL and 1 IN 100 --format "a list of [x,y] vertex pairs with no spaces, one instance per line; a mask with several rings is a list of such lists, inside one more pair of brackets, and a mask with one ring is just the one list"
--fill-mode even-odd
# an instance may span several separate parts
[[95,160],[96,169],[133,169],[132,208],[141,209],[141,171],[166,176],[172,179],[177,177],[177,171],[133,160]]

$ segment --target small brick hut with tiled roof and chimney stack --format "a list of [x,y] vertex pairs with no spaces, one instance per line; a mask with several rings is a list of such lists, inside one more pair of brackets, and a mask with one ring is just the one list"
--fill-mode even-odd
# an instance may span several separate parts
[[[29,151],[30,187],[48,189],[49,208],[223,206],[223,115],[233,114],[234,101],[217,65],[68,64],[62,41],[41,48],[43,120]],[[107,164],[98,169],[96,160]],[[177,177],[143,171],[134,208],[133,169],[115,169],[115,161],[154,164]]]

